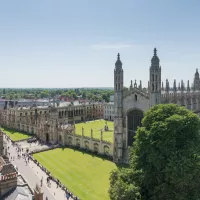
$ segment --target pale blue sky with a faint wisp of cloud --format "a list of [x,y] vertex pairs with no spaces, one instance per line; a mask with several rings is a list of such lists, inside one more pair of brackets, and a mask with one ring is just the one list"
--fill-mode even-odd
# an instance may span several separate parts
[[162,80],[200,70],[200,1],[0,0],[0,87],[147,86],[153,48]]

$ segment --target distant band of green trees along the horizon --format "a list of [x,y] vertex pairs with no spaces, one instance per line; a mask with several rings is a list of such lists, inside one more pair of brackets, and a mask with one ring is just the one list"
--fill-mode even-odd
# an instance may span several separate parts
[[109,102],[113,88],[1,88],[0,95],[5,99],[39,99],[55,96],[65,100],[88,99]]

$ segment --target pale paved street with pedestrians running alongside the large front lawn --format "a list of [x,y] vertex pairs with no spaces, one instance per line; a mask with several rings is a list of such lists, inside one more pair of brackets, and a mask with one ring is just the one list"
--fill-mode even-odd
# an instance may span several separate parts
[[[26,165],[25,160],[17,159],[16,146],[13,147],[9,141],[7,146],[9,146],[9,153],[15,160],[10,160],[14,166],[18,167],[19,173],[24,177],[29,186],[34,189],[36,184],[41,184],[41,178],[43,177],[42,191],[44,192],[44,200],[47,197],[48,200],[66,200],[65,192],[58,187],[54,181],[51,181],[51,187],[49,188],[46,184],[47,175],[43,172],[40,167],[38,167],[33,161],[29,161]],[[71,198],[70,198],[71,199]]]

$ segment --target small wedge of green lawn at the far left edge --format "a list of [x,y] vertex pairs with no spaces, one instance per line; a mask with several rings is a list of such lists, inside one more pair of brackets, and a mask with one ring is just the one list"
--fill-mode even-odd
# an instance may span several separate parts
[[12,141],[18,141],[18,140],[28,139],[32,137],[31,135],[20,133],[12,129],[7,129],[7,128],[1,128],[1,129],[7,136],[10,137]]

